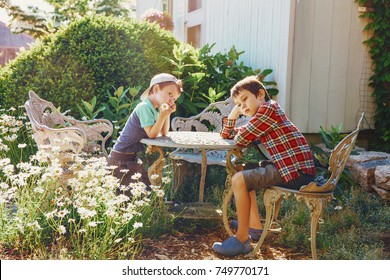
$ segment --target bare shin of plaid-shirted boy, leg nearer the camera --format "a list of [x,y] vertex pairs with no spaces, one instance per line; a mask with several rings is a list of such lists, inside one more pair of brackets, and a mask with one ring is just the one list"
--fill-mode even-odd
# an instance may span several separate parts
[[238,230],[236,238],[245,243],[249,234],[249,214],[251,210],[251,197],[241,172],[234,174],[232,178],[232,190],[236,201]]

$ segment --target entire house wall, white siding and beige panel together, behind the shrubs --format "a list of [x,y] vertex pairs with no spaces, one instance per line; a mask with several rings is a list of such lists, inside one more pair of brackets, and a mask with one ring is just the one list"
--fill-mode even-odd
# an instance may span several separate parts
[[[161,1],[138,1],[137,14],[159,8]],[[371,61],[362,43],[368,34],[355,1],[203,0],[196,15],[187,13],[187,0],[172,3],[178,39],[186,41],[186,27],[196,16],[201,46],[215,43],[214,52],[235,46],[245,51],[246,65],[273,69],[276,99],[302,132],[340,123],[351,131],[362,111],[364,127],[373,128]]]

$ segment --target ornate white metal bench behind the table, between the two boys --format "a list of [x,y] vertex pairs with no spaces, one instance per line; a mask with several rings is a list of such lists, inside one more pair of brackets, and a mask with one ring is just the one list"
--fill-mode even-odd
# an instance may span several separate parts
[[[175,117],[172,119],[171,128],[173,131],[212,131],[221,132],[222,119],[227,117],[234,107],[233,100],[229,97],[225,101],[211,103],[198,115],[182,118]],[[248,117],[240,117],[236,126],[244,125],[248,122]],[[202,155],[201,150],[196,149],[176,149],[170,154],[172,160],[174,177],[178,168],[177,161],[184,160],[190,163],[201,164],[201,189],[205,183],[207,165],[226,166],[227,151],[225,150],[207,150]],[[172,192],[180,186],[180,179],[175,178]],[[200,202],[203,202],[203,194],[200,195]]]

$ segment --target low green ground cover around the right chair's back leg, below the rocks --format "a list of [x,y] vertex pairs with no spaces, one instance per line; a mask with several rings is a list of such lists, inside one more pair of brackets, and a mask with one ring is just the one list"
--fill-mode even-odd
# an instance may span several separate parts
[[[260,199],[259,201],[262,200]],[[352,189],[345,205],[337,200],[324,210],[317,231],[319,258],[328,260],[386,259],[380,233],[389,230],[390,208],[377,195]],[[281,205],[279,219],[284,246],[310,254],[310,213],[291,196]]]

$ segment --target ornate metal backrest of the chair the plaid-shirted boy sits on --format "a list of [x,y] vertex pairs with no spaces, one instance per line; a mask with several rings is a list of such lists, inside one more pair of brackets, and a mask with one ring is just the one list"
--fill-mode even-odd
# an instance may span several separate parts
[[324,185],[317,185],[316,182],[311,182],[306,186],[302,186],[300,192],[311,192],[311,193],[329,193],[333,192],[334,188],[339,181],[341,174],[343,173],[345,164],[347,163],[348,157],[355,145],[360,125],[362,123],[364,113],[360,117],[357,128],[344,137],[340,143],[332,150],[329,157],[329,171],[331,171],[330,177]]

